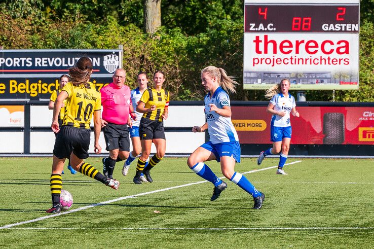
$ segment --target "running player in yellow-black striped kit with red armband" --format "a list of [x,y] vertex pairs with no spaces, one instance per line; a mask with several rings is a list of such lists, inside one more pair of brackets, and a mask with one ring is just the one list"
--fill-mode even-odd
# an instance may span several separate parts
[[[142,172],[148,182],[153,182],[149,170],[161,161],[166,150],[163,120],[168,117],[170,93],[162,89],[162,84],[165,81],[165,74],[162,71],[158,70],[154,74],[153,81],[155,87],[145,90],[136,106],[136,111],[143,113],[143,117],[139,125],[141,155],[138,159],[136,174],[133,180],[135,184],[141,184],[140,174]],[[156,154],[149,159],[147,167],[144,168],[145,161],[151,153],[152,142],[156,146]]]

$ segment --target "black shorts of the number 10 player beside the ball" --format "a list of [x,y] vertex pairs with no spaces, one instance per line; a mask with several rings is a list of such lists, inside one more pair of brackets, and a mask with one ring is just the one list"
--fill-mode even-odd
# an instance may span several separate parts
[[70,158],[71,152],[80,159],[89,157],[90,129],[61,126],[57,133],[53,155],[59,159]]

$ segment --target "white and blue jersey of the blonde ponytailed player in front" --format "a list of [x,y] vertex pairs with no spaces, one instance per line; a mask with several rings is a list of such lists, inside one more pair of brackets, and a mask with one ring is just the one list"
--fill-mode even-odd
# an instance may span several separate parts
[[214,111],[209,112],[209,104],[215,104],[219,109],[222,109],[225,105],[230,106],[230,98],[227,92],[225,92],[221,87],[218,87],[212,97],[210,97],[210,93],[204,97],[204,103],[204,112],[208,123],[210,141],[213,144],[239,141],[238,134],[231,122],[231,118],[222,117]]

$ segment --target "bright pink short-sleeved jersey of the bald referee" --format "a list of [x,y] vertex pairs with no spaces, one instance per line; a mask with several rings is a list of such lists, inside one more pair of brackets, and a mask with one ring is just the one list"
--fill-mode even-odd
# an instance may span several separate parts
[[130,88],[124,85],[118,88],[114,83],[100,89],[103,106],[102,119],[108,123],[127,124],[130,114]]

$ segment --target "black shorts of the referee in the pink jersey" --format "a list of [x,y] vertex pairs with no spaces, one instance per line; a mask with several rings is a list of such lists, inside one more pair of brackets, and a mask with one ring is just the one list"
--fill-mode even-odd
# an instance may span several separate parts
[[104,127],[106,150],[130,151],[129,128],[127,125],[108,123]]

